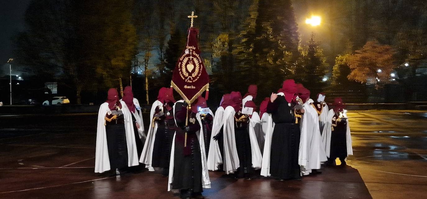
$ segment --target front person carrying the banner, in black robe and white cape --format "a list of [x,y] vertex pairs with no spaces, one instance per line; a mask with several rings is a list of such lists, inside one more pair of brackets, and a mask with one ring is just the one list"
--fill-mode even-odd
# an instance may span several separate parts
[[181,195],[190,191],[194,192],[190,195],[201,196],[202,188],[211,188],[202,121],[200,115],[197,116],[199,112],[195,111],[199,107],[207,107],[205,99],[200,96],[191,104],[191,109],[187,109],[184,100],[173,106],[177,128],[170,154],[168,190],[179,189]]

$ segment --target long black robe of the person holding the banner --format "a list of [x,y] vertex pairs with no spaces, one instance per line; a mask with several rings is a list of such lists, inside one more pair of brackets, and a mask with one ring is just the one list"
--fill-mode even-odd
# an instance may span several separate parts
[[[203,191],[202,188],[202,154],[200,152],[199,139],[196,132],[200,130],[200,124],[196,114],[189,112],[187,132],[187,147],[184,147],[186,110],[184,103],[175,104],[175,119],[177,130],[175,134],[175,153],[172,189],[189,190],[193,193]],[[191,122],[194,121],[194,124]]]

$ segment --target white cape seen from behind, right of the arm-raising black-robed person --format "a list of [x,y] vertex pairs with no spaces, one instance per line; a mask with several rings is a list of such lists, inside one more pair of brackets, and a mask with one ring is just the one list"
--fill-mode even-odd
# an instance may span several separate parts
[[298,150],[298,164],[301,166],[301,173],[308,175],[312,169],[320,169],[323,162],[326,162],[325,149],[322,147],[322,140],[319,130],[319,116],[309,99],[304,103],[304,114],[301,117],[301,137]]

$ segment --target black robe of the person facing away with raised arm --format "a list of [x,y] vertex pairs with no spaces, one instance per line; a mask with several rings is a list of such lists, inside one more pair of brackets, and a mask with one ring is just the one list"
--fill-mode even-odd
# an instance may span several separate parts
[[271,176],[276,179],[298,179],[301,177],[298,165],[301,132],[299,123],[295,124],[292,107],[284,96],[278,96],[267,105],[267,113],[272,114],[275,122],[270,153]]

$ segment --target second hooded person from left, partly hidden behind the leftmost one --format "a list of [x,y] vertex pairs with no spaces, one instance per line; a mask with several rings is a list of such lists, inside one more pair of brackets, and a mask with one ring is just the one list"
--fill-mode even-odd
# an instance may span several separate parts
[[144,123],[142,121],[141,107],[139,105],[139,101],[133,96],[132,87],[125,87],[125,89],[123,90],[122,101],[126,103],[126,106],[128,106],[131,112],[132,124],[135,133],[135,143],[139,159],[141,157],[146,135],[144,133]]

